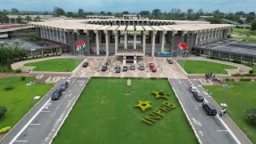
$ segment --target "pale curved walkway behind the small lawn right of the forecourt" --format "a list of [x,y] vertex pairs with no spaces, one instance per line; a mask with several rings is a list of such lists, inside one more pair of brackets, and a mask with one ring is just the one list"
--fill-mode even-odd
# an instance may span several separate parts
[[[191,58],[186,58],[186,59],[198,60],[198,61],[206,61],[206,62],[216,62],[216,63],[230,65],[230,66],[236,66],[236,67],[239,68],[239,71],[241,73],[249,73],[249,71],[251,70],[251,68],[249,66],[245,66],[245,65],[242,65],[242,64],[234,63],[234,62],[218,61],[216,59],[203,58],[203,57],[191,57]],[[239,72],[239,71],[234,71],[234,69],[230,70],[231,73],[236,73],[236,72]]]

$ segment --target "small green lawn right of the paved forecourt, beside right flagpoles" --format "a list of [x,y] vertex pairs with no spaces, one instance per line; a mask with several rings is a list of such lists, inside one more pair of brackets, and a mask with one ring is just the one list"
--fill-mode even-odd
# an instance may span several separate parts
[[227,74],[224,69],[237,69],[235,66],[219,64],[215,62],[186,60],[185,71],[187,74]]

